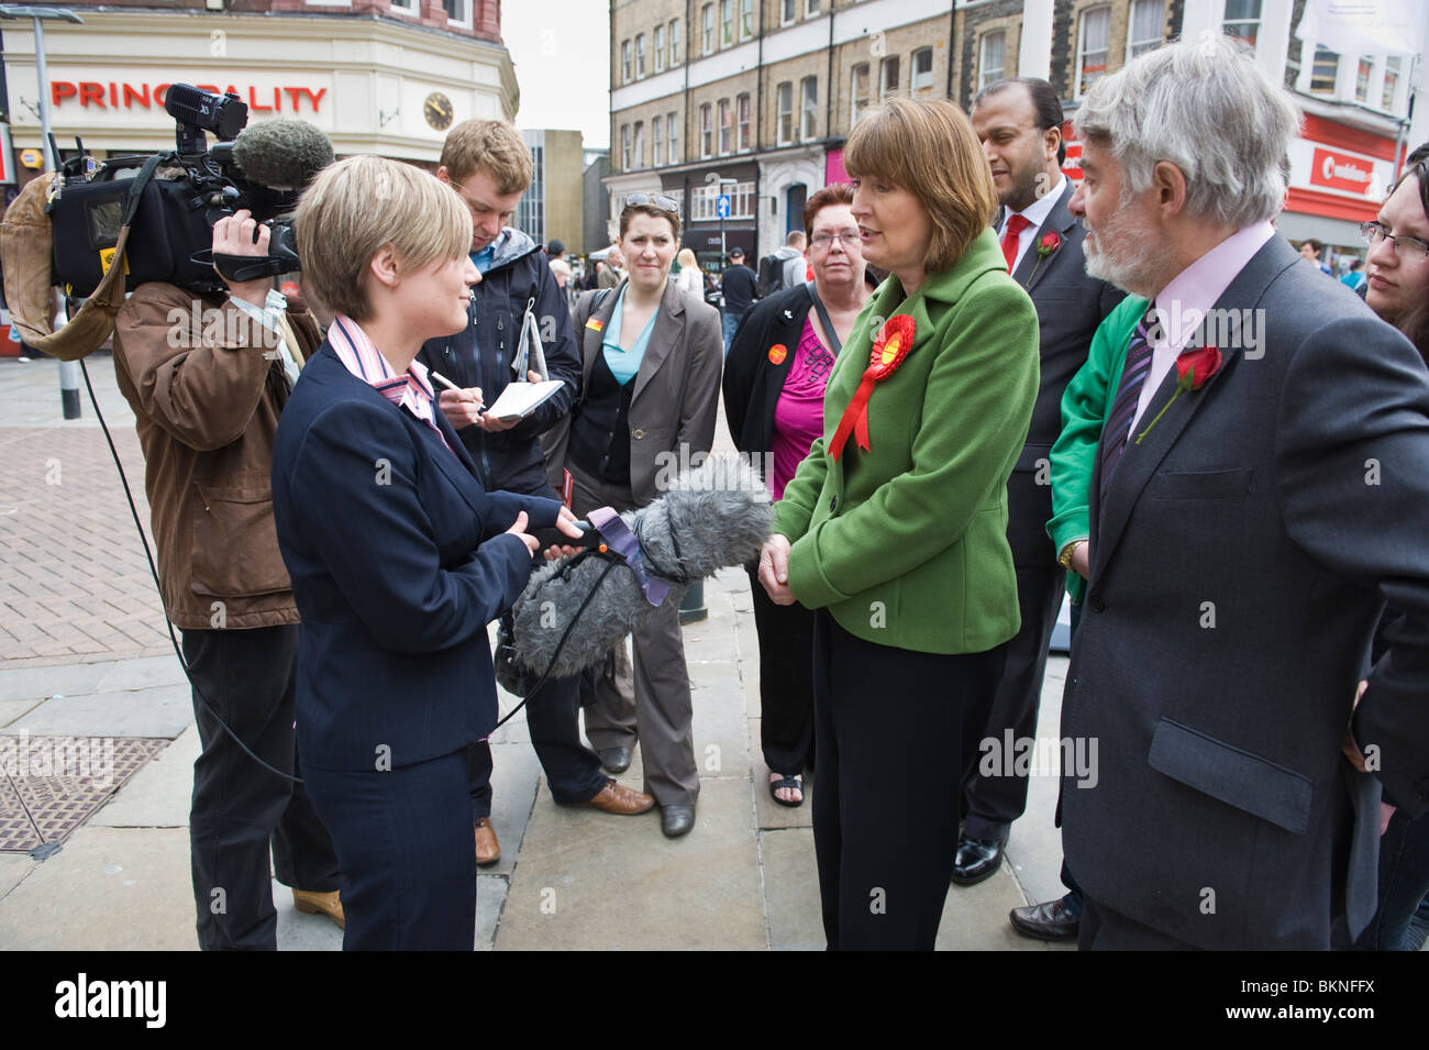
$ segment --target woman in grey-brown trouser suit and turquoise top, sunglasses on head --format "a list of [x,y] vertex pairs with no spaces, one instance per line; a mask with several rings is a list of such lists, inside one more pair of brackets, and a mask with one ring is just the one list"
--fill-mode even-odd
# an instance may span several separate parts
[[[725,356],[719,311],[669,280],[679,246],[676,201],[632,193],[620,211],[626,279],[586,293],[573,310],[582,393],[564,451],[554,441],[552,463],[564,464],[570,507],[582,517],[596,507],[646,506],[714,441]],[[672,839],[694,826],[700,791],[677,606],[666,599],[634,631],[633,674],[624,646],[616,647],[613,669],[586,707],[586,736],[612,773],[630,764],[639,740],[644,791]]]

